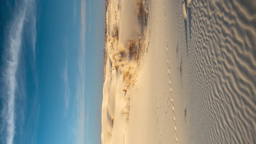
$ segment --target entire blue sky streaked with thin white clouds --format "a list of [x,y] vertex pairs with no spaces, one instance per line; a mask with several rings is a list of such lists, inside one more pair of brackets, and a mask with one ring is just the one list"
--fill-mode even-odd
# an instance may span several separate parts
[[0,1],[0,143],[101,143],[104,0]]

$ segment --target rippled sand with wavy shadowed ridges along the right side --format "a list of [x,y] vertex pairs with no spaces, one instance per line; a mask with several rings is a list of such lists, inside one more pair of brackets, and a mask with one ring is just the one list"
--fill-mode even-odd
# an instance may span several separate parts
[[177,7],[190,139],[256,143],[255,2],[194,0],[186,21]]

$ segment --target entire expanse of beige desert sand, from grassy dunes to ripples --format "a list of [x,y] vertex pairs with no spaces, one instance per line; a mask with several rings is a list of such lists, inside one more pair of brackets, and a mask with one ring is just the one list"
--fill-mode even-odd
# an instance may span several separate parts
[[256,143],[253,1],[106,1],[102,143]]

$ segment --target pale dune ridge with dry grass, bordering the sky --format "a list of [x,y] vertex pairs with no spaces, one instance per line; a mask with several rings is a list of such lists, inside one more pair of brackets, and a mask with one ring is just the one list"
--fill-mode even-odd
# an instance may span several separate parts
[[[125,142],[131,89],[137,81],[141,57],[147,47],[146,5],[146,1],[138,0],[128,3],[118,0],[106,1],[102,143]],[[128,25],[130,29],[123,28]]]

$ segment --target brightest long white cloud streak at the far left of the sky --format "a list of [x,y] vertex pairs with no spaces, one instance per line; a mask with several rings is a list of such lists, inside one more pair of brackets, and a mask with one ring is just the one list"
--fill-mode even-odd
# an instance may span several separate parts
[[[30,13],[31,3],[33,1],[27,0],[16,7],[13,15],[13,20],[10,22],[10,29],[8,30],[7,41],[4,45],[5,53],[5,68],[2,73],[5,91],[1,93],[3,100],[3,109],[1,111],[1,119],[3,121],[0,125],[1,141],[3,143],[14,143],[15,136],[15,95],[17,93],[17,77],[16,73],[19,67],[20,51],[22,46],[22,32],[24,31],[24,23],[27,14]],[[32,40],[35,44],[36,39]]]

